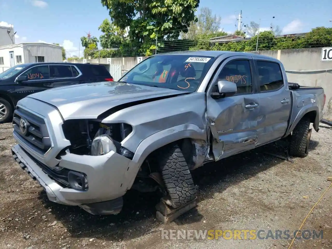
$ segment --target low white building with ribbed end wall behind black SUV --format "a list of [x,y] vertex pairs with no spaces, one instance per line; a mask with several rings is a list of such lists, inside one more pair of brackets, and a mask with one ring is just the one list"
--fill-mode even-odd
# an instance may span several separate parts
[[33,62],[62,62],[61,46],[46,42],[0,46],[0,73],[18,64]]

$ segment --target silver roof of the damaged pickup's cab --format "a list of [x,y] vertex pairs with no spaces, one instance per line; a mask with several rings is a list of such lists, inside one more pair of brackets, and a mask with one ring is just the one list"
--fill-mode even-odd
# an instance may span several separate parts
[[177,51],[177,52],[166,52],[166,53],[160,53],[153,56],[158,55],[200,55],[200,56],[212,56],[212,57],[219,57],[222,54],[226,54],[228,56],[234,56],[234,55],[246,55],[246,56],[256,56],[256,57],[262,57],[262,58],[268,58],[271,59],[272,57],[261,55],[261,54],[255,54],[255,53],[246,53],[246,52],[234,52],[234,51],[217,51],[217,50],[197,50],[197,51]]

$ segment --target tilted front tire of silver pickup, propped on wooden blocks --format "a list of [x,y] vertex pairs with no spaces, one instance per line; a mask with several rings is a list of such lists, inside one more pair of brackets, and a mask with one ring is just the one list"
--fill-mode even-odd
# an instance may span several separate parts
[[178,145],[162,148],[159,167],[166,190],[174,208],[185,205],[196,198],[196,188],[187,162]]

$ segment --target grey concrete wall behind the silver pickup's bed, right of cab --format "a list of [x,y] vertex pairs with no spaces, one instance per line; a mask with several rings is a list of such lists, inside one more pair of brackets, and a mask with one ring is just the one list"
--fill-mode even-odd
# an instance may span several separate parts
[[332,61],[320,61],[321,47],[254,51],[253,53],[279,59],[286,69],[289,82],[302,86],[323,87],[326,94],[324,118],[332,119]]

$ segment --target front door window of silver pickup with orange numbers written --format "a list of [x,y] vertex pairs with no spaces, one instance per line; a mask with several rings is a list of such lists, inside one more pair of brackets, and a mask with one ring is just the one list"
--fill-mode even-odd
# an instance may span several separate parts
[[[220,80],[227,80],[235,83],[237,86],[236,94],[252,93],[249,60],[233,60],[228,62],[218,75],[217,82]],[[216,84],[213,91],[218,91],[218,86]]]

